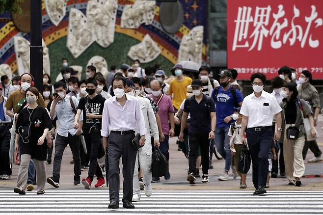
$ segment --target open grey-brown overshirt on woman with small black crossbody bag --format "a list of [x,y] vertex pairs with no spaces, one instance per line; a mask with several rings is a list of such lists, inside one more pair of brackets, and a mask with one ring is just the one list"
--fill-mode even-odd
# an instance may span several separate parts
[[[304,110],[304,114],[306,117],[312,115],[311,109],[308,107],[307,103],[305,102],[305,100],[300,99],[300,103],[302,104],[303,110]],[[305,130],[304,130],[304,126],[303,126],[303,115],[302,115],[302,110],[298,107],[297,102],[295,103],[296,105],[296,123],[295,123],[295,127],[299,129],[299,134],[298,136],[302,136],[305,134]],[[281,132],[281,136],[280,136],[280,140],[279,142],[284,142],[284,135],[285,135],[285,126],[286,126],[286,121],[285,121],[285,108],[287,106],[287,101],[283,101],[282,103],[280,103],[279,105],[283,111],[280,112],[281,114],[281,118],[282,118],[282,132]]]

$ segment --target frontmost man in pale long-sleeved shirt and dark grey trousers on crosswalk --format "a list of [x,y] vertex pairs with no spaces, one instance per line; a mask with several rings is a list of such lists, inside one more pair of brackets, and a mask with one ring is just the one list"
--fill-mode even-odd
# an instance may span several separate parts
[[147,129],[145,128],[139,100],[134,96],[125,95],[125,78],[116,76],[112,81],[112,86],[115,96],[105,102],[101,130],[104,148],[106,153],[108,153],[108,185],[110,194],[108,208],[119,208],[119,160],[121,156],[124,178],[123,207],[135,208],[132,204],[132,199],[136,152],[133,148],[132,140],[138,127],[139,134],[141,135],[139,145],[144,146]]

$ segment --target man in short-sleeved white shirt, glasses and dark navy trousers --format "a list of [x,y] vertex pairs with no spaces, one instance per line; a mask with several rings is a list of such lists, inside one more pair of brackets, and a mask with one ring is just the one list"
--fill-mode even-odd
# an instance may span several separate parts
[[244,98],[240,113],[242,114],[241,140],[245,144],[244,132],[248,138],[248,146],[252,161],[252,182],[256,190],[254,195],[266,193],[268,173],[268,154],[272,143],[272,120],[275,115],[276,127],[274,138],[281,134],[282,110],[276,99],[264,91],[266,76],[255,73],[251,76],[254,92]]

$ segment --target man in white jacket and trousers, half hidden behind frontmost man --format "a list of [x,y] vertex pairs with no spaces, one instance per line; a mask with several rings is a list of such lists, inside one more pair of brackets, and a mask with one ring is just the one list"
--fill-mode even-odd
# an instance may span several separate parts
[[[145,118],[145,125],[147,129],[147,134],[145,141],[145,145],[138,150],[136,153],[136,161],[135,161],[135,172],[134,172],[134,194],[133,194],[133,202],[140,201],[140,186],[138,180],[138,166],[140,165],[140,170],[143,171],[143,184],[144,184],[144,192],[146,196],[151,196],[152,187],[151,180],[153,179],[152,171],[151,171],[151,163],[152,163],[152,144],[150,137],[150,131],[154,137],[154,146],[160,146],[159,142],[159,133],[156,117],[154,114],[154,110],[150,104],[150,100],[141,96],[137,96],[135,94],[135,84],[132,80],[127,79],[127,86],[125,88],[126,95],[135,96],[141,105],[141,111],[143,117]],[[137,131],[136,131],[137,133]],[[138,165],[139,164],[139,165]]]

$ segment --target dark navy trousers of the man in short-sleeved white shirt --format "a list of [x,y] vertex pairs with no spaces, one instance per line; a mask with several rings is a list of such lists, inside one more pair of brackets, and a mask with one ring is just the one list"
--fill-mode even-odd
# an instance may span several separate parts
[[248,146],[252,161],[252,182],[253,186],[264,188],[268,174],[268,155],[272,143],[272,129],[268,128],[260,132],[254,129],[246,131]]

